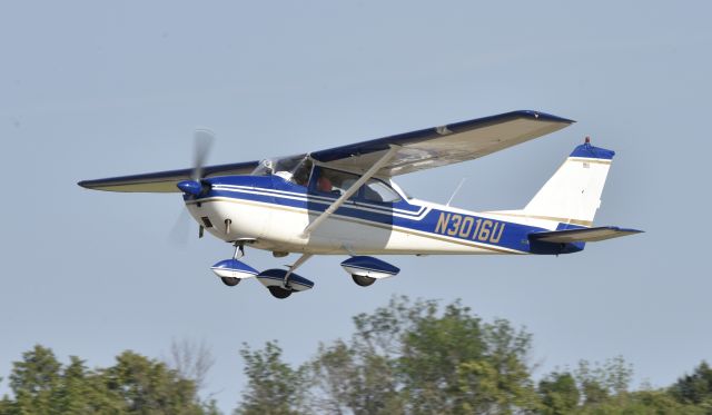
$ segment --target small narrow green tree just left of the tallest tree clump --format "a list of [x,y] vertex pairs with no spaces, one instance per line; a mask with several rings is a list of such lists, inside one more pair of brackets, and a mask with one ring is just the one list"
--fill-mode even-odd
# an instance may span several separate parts
[[283,362],[277,343],[267,342],[263,350],[253,350],[245,345],[240,355],[245,360],[248,386],[236,414],[300,413],[306,393],[305,375],[303,369],[294,369]]

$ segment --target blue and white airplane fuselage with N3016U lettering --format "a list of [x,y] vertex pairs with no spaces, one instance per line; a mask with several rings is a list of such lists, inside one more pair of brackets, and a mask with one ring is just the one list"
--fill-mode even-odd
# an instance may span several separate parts
[[384,202],[363,191],[349,198],[309,235],[304,229],[338,195],[314,181],[297,185],[278,175],[206,179],[209,190],[185,196],[191,216],[225,241],[249,240],[275,253],[322,255],[566,254],[583,244],[542,244],[536,231],[578,228],[512,211],[475,213],[403,195]]

